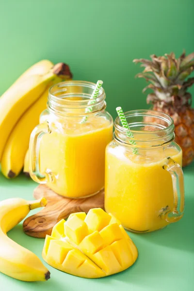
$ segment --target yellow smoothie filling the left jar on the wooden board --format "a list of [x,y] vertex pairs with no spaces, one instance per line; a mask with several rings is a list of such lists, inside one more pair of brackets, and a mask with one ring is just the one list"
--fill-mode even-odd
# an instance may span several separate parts
[[113,124],[100,116],[83,124],[68,117],[49,127],[51,133],[40,143],[40,171],[51,170],[54,177],[49,188],[70,198],[97,193],[104,187],[105,148],[112,140]]

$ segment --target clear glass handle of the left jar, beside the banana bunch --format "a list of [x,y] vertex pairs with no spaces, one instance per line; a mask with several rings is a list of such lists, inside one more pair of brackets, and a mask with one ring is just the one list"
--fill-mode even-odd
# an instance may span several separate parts
[[50,133],[48,122],[37,125],[31,133],[29,145],[29,170],[31,178],[39,183],[46,184],[53,181],[53,175],[49,169],[44,173],[40,172],[40,140],[44,134]]

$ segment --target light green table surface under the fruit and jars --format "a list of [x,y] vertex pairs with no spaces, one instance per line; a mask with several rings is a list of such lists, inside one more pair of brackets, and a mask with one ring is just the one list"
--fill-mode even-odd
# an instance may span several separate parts
[[[51,278],[46,282],[22,282],[0,273],[0,291],[190,291],[194,290],[194,163],[184,169],[185,214],[162,230],[130,233],[139,257],[128,270],[101,279],[84,279],[60,272],[45,263]],[[22,197],[32,200],[37,186],[22,175],[7,180],[0,174],[0,200]],[[31,211],[31,215],[35,210]],[[20,223],[8,236],[40,259],[44,239],[25,235]],[[43,259],[42,259],[43,261]]]

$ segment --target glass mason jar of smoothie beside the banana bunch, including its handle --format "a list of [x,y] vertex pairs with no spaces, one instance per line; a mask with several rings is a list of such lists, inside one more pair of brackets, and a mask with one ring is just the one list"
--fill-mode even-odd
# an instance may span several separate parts
[[31,134],[32,179],[69,198],[94,195],[104,187],[105,148],[113,139],[113,119],[106,112],[103,88],[89,105],[94,88],[86,81],[53,85],[48,109]]

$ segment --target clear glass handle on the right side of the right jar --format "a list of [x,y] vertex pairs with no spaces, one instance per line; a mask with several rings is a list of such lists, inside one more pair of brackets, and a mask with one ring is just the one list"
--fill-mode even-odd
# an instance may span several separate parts
[[174,205],[173,209],[169,210],[168,206],[162,210],[162,218],[167,222],[176,222],[183,216],[184,211],[184,177],[182,168],[170,157],[167,158],[168,162],[163,165],[163,169],[167,170],[173,182],[173,194],[174,194]]

